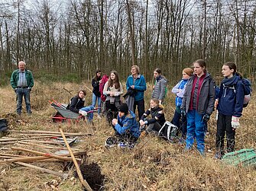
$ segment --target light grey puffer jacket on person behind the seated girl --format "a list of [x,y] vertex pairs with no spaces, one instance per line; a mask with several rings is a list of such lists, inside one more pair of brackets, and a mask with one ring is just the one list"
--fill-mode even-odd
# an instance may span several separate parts
[[151,97],[156,98],[158,100],[164,100],[166,88],[167,88],[167,79],[164,78],[164,76],[160,75],[156,79],[156,83],[154,84],[154,90],[152,92]]

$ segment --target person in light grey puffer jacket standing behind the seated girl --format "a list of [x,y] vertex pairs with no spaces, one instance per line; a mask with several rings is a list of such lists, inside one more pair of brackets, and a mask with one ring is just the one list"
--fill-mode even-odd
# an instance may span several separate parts
[[153,85],[153,92],[151,98],[156,98],[159,103],[163,103],[167,88],[167,79],[161,75],[161,70],[156,68],[154,70],[154,78],[156,79]]

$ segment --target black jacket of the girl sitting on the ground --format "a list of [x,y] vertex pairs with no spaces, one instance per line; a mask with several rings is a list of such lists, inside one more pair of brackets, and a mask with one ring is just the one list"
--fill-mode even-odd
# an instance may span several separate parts
[[[146,117],[149,115],[151,115],[151,119],[146,119]],[[163,126],[165,123],[164,107],[157,106],[154,108],[150,108],[141,116],[141,119],[143,121],[147,121],[147,124],[158,122],[160,126]]]

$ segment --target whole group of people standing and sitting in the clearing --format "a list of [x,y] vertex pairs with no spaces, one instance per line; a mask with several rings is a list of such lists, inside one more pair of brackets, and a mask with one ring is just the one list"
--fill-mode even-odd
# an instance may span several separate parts
[[[193,142],[196,139],[196,148],[200,154],[204,155],[207,122],[216,108],[219,114],[215,158],[222,158],[225,154],[225,135],[226,151],[235,150],[235,129],[240,126],[239,117],[243,110],[245,97],[242,77],[238,74],[234,62],[226,62],[222,66],[224,79],[220,84],[219,91],[216,91],[215,81],[206,71],[206,62],[202,59],[193,62],[193,69],[184,68],[182,75],[181,81],[172,89],[173,94],[176,94],[176,110],[171,122],[180,129],[180,140],[186,142],[185,151],[193,147]],[[103,81],[102,72],[97,70],[96,75],[92,78],[92,105],[84,107],[86,91],[79,91],[70,100],[67,109],[87,116],[87,119],[92,121],[93,110],[97,109],[98,117],[101,118],[104,98],[105,110],[113,113],[111,123],[119,145],[133,147],[142,130],[147,133],[157,133],[166,122],[163,104],[167,107],[167,103],[164,102],[167,93],[167,79],[161,75],[159,68],[154,70],[154,78],[150,108],[146,111],[144,110],[144,91],[147,90],[147,85],[138,65],[131,66],[131,75],[126,80],[127,93],[124,103],[121,99],[124,91],[118,78],[118,72],[112,71],[109,79],[105,78]],[[33,85],[31,72],[25,69],[24,62],[19,62],[18,70],[11,75],[11,86],[17,94],[17,113],[19,115],[21,114],[23,95],[27,113],[31,113],[29,92]],[[98,108],[96,108],[96,103],[98,103]],[[138,118],[134,114],[136,108]]]

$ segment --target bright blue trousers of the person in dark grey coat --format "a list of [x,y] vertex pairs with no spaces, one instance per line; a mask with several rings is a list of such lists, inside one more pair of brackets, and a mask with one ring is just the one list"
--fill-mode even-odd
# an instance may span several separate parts
[[196,138],[197,150],[200,154],[205,152],[205,123],[203,114],[197,113],[196,110],[189,110],[186,114],[187,133],[186,133],[186,150],[190,149]]

